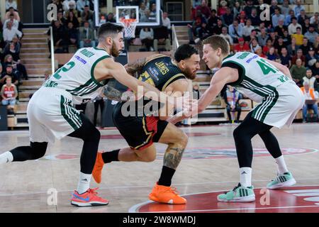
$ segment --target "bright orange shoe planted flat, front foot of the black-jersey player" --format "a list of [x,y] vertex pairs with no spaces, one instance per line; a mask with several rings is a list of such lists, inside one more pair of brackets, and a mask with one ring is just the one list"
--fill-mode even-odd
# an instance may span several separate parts
[[164,204],[186,204],[186,199],[177,194],[176,188],[158,185],[157,183],[149,195],[150,200]]

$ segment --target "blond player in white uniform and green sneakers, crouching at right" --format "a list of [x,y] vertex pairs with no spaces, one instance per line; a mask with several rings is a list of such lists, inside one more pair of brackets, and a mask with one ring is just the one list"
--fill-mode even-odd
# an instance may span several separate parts
[[[203,60],[210,69],[220,68],[211,79],[211,85],[194,106],[192,115],[211,104],[223,87],[235,86],[239,92],[259,103],[233,132],[237,159],[240,165],[240,183],[235,189],[218,195],[218,201],[254,201],[252,187],[252,138],[259,135],[269,153],[275,158],[278,175],[267,184],[268,189],[279,189],[296,183],[287,170],[279,143],[270,131],[272,127],[290,126],[304,104],[301,89],[291,79],[284,65],[264,59],[252,52],[230,55],[228,42],[220,35],[203,40]],[[174,117],[171,122],[180,121]]]

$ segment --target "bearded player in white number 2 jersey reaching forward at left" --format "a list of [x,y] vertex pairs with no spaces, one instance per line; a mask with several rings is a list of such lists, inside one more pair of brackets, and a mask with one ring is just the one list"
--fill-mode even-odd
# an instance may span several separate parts
[[[114,62],[111,56],[117,57],[123,49],[122,31],[122,26],[103,24],[99,28],[99,45],[96,48],[78,50],[67,64],[47,79],[28,103],[30,146],[14,148],[0,155],[0,165],[36,160],[45,155],[47,143],[55,138],[69,135],[84,140],[79,184],[71,199],[74,206],[101,206],[108,201],[97,196],[96,189],[89,187],[101,135],[84,114],[74,109],[73,100],[95,98],[107,80],[113,77],[134,92],[138,91],[138,86],[143,86],[144,92],[156,92],[158,97],[152,96],[152,99],[167,97],[150,84],[132,77],[123,65]],[[176,101],[172,96],[167,100],[172,104]],[[177,102],[180,101],[177,98]]]

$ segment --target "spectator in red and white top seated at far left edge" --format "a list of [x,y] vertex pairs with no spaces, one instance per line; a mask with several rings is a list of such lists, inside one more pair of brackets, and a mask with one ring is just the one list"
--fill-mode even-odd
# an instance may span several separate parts
[[8,109],[14,109],[16,105],[16,97],[18,96],[18,89],[12,84],[11,77],[6,78],[6,84],[1,88],[2,105],[8,106]]

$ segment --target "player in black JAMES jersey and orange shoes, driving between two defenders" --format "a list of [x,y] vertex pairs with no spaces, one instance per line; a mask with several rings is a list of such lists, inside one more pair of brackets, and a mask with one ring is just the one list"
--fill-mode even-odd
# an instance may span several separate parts
[[[129,74],[138,72],[138,79],[152,84],[171,96],[181,96],[189,90],[189,79],[196,77],[200,57],[191,45],[181,45],[174,54],[174,60],[165,55],[152,55],[126,66]],[[172,123],[167,122],[169,113],[174,111],[170,106],[159,106],[151,100],[121,101],[113,111],[116,128],[125,138],[130,148],[99,153],[94,166],[93,177],[101,182],[101,171],[104,163],[152,162],[156,158],[154,143],[168,145],[164,154],[164,165],[159,181],[150,194],[153,201],[166,204],[186,204],[186,199],[179,196],[171,186],[172,177],[186,148],[187,135]],[[125,116],[125,111],[133,114]]]

